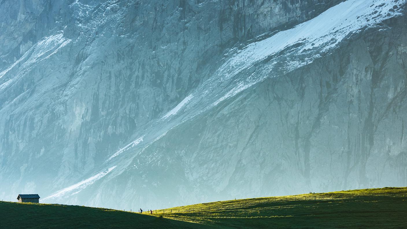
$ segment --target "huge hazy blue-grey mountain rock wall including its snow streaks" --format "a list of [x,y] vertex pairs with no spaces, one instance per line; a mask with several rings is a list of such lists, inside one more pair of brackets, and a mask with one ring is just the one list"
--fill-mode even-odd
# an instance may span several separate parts
[[5,200],[160,208],[407,185],[405,1],[0,12]]

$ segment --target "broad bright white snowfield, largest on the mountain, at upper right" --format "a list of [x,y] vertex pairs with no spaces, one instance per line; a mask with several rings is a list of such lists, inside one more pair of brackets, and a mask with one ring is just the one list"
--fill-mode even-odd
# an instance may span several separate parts
[[[398,4],[403,3],[405,0],[398,1]],[[265,40],[247,45],[223,64],[221,70],[229,70],[230,73],[236,74],[254,62],[296,44],[302,44],[301,48],[296,48],[298,52],[317,46],[323,46],[322,51],[327,51],[350,33],[357,32],[365,26],[373,27],[378,22],[400,15],[399,12],[389,11],[393,9],[394,4],[395,2],[388,0],[341,2],[292,29],[281,31]]]

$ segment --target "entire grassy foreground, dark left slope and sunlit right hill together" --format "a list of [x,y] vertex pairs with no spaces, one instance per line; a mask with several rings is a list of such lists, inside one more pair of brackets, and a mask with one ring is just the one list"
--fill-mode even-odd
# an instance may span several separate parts
[[0,227],[13,228],[407,228],[406,216],[407,187],[219,201],[153,216],[0,202]]

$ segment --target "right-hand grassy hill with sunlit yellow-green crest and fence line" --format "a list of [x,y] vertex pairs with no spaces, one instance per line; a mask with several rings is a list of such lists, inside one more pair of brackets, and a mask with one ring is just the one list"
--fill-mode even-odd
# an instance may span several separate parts
[[[400,227],[407,226],[403,220],[407,213],[406,199],[407,187],[385,187],[218,201],[159,209],[154,213],[171,219],[237,228],[295,228],[304,222],[310,228]],[[257,221],[254,223],[253,220]]]

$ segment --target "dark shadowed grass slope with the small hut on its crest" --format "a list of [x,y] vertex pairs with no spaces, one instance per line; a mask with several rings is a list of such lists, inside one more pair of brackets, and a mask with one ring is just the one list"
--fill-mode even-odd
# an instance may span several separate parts
[[129,211],[0,201],[0,229],[7,228],[206,228],[191,222]]

